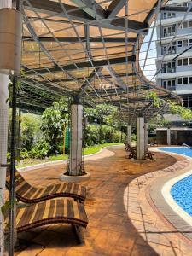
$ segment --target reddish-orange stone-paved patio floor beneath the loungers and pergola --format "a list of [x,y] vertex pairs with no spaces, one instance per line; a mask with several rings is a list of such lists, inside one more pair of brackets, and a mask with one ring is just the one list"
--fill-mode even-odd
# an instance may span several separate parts
[[[85,161],[85,169],[91,173],[85,209],[89,217],[86,230],[82,230],[84,243],[78,245],[70,225],[57,224],[37,228],[19,235],[24,247],[15,255],[160,255],[143,239],[125,211],[124,193],[127,185],[141,175],[172,166],[176,160],[172,156],[155,153],[153,162],[132,163],[126,159],[124,148],[111,148],[114,155]],[[44,167],[41,170],[23,172],[29,183],[48,185],[58,183],[58,176],[64,172],[66,164]],[[137,204],[137,202],[135,202]],[[132,202],[134,205],[134,201]],[[137,216],[137,205],[132,207],[132,215]],[[160,244],[158,245],[160,247]],[[192,255],[192,247],[186,245],[185,253],[161,255]],[[174,252],[174,250],[172,250]]]

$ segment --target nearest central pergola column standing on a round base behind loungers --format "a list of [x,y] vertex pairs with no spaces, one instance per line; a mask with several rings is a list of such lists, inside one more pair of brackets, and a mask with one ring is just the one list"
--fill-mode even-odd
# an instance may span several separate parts
[[71,105],[71,137],[68,174],[82,174],[83,106],[79,96],[75,96]]

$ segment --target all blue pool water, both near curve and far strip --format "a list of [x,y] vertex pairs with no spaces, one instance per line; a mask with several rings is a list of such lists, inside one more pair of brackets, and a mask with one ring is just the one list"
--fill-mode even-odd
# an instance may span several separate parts
[[[160,148],[162,151],[172,152],[177,154],[184,154],[192,157],[192,149],[181,148]],[[185,177],[175,183],[171,189],[172,198],[177,202],[177,205],[183,208],[192,216],[192,175]]]

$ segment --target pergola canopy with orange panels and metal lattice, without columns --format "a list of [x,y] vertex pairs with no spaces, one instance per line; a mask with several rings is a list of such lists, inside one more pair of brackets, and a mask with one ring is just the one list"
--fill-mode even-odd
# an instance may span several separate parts
[[165,3],[24,0],[23,108],[44,109],[58,95],[79,96],[93,107],[104,102],[117,106],[131,124],[141,114],[150,119],[167,111],[166,102],[164,108],[153,106],[148,91],[180,102],[149,81],[139,64],[143,38]]

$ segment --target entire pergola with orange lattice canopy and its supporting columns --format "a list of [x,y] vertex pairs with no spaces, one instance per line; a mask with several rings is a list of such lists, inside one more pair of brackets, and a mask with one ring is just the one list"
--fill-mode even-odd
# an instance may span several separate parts
[[[166,0],[1,0],[1,54],[13,50],[10,59],[0,61],[0,160],[1,192],[5,185],[8,138],[9,72],[14,73],[12,95],[12,131],[9,193],[9,255],[14,255],[15,222],[15,130],[17,79],[20,73],[21,15],[22,59],[21,90],[18,98],[22,108],[43,111],[58,96],[73,98],[71,105],[71,141],[67,178],[77,182],[84,176],[82,163],[81,101],[94,108],[109,103],[119,108],[129,128],[137,120],[137,159],[145,157],[148,126],[146,121],[158,113],[166,113],[166,99],[181,102],[172,91],[157,87],[143,75],[150,42],[146,48],[143,67],[140,67],[141,45]],[[12,9],[12,4],[16,11]],[[172,10],[172,8],[171,8]],[[183,9],[181,9],[183,11]],[[187,9],[189,12],[190,9]],[[5,17],[10,15],[10,20]],[[18,20],[18,24],[15,20]],[[8,25],[8,21],[11,26]],[[20,23],[20,24],[19,24]],[[18,26],[16,26],[18,25]],[[4,42],[3,36],[8,40]],[[13,40],[11,40],[13,38]],[[6,41],[6,40],[5,40]],[[6,44],[6,45],[5,45]],[[5,47],[6,46],[6,47]],[[17,52],[18,50],[18,52]],[[18,57],[19,56],[19,57]],[[9,65],[8,65],[8,63]],[[9,66],[9,67],[8,67]],[[6,73],[3,73],[5,72]],[[160,71],[157,71],[157,73]],[[157,108],[146,95],[155,92],[164,104]],[[128,137],[131,137],[129,129]],[[148,141],[147,141],[148,143]],[[65,177],[66,178],[66,177]],[[78,181],[79,182],[79,181]],[[0,197],[1,197],[0,196]],[[3,198],[3,197],[2,197]],[[0,198],[1,199],[1,198]],[[3,201],[0,200],[0,206]],[[2,234],[0,214],[0,233]],[[0,249],[3,243],[0,243]]]

